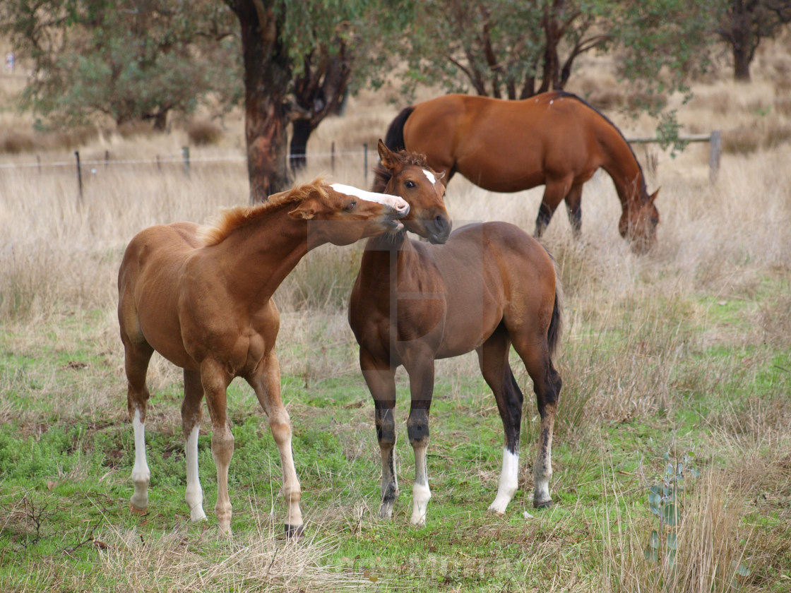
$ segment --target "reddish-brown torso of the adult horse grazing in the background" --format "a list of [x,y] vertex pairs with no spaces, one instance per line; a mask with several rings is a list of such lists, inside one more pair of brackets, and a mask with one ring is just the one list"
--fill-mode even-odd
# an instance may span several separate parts
[[490,191],[520,191],[547,176],[588,179],[602,164],[596,141],[606,123],[568,93],[524,100],[446,95],[416,105],[403,137],[433,168],[460,172]]

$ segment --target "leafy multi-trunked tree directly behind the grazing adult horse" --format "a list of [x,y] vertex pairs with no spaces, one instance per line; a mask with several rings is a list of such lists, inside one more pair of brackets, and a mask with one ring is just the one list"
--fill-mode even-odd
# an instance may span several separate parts
[[[450,92],[524,99],[563,89],[575,61],[611,51],[615,72],[653,99],[684,90],[706,68],[713,40],[706,0],[423,0],[404,38],[407,91],[432,81]],[[672,132],[674,115],[664,114]]]

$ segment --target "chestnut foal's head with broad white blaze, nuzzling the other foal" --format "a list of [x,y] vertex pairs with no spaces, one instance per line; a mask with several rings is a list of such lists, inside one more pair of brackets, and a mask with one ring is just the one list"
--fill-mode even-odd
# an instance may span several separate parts
[[407,216],[409,204],[397,195],[376,194],[316,179],[290,191],[270,196],[270,201],[294,202],[294,220],[309,221],[312,243],[348,245],[365,237],[403,229],[399,218]]

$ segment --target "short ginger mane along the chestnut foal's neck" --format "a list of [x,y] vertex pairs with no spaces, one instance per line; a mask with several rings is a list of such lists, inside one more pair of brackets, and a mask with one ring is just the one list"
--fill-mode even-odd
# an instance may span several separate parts
[[273,194],[266,202],[255,206],[234,206],[222,210],[214,221],[201,227],[200,235],[207,246],[216,245],[236,229],[267,217],[284,206],[302,202],[314,192],[325,198],[327,196],[325,187],[322,179],[314,179],[311,183],[304,183],[290,190],[281,191],[279,194]]

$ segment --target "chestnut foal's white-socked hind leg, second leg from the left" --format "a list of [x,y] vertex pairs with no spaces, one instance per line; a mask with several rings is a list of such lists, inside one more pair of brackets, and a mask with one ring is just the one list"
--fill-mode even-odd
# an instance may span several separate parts
[[200,429],[203,386],[200,373],[184,369],[184,402],[181,403],[181,427],[184,429],[184,459],[187,461],[187,489],[184,500],[190,508],[190,519],[206,519],[203,512],[203,490],[198,471],[198,434]]

